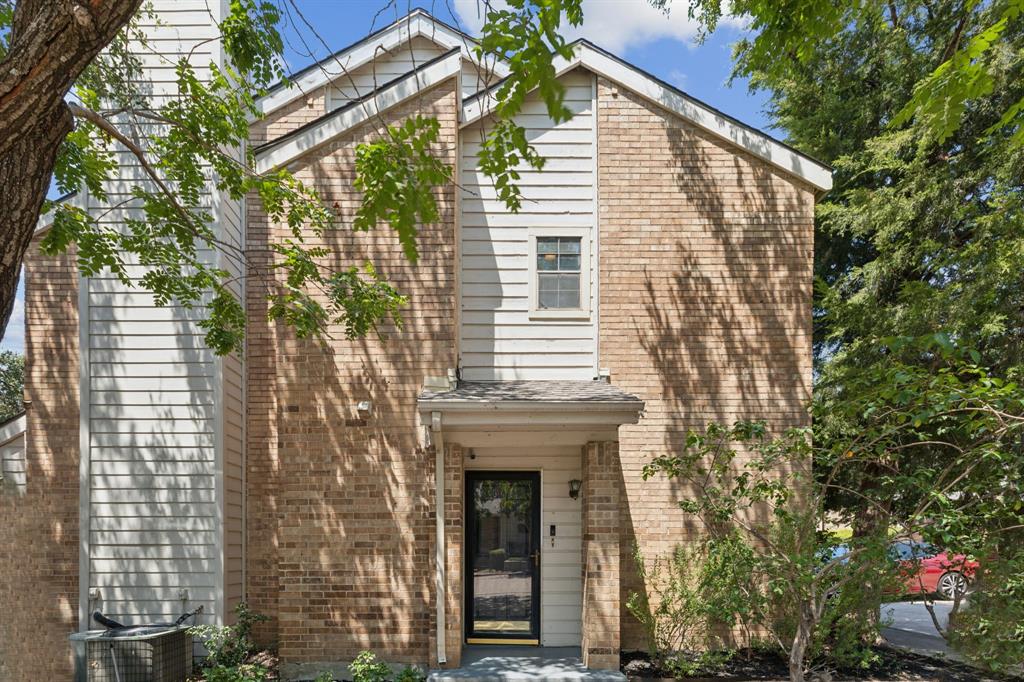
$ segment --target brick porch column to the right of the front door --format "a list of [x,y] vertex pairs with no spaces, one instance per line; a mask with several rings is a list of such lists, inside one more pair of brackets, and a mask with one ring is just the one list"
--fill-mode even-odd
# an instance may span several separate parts
[[583,449],[583,662],[618,670],[618,443]]

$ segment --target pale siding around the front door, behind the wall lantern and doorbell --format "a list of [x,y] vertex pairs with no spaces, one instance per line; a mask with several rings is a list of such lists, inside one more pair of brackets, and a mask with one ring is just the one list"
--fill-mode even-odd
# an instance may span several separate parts
[[475,447],[473,453],[475,459],[465,460],[467,471],[541,472],[541,645],[580,646],[583,507],[568,496],[569,480],[582,477],[580,447]]

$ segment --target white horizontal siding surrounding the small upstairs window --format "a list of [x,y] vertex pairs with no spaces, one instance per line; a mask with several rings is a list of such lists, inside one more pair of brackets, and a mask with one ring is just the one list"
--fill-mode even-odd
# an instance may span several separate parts
[[[586,72],[562,78],[565,104],[574,116],[555,124],[536,96],[516,122],[547,159],[543,171],[521,169],[522,208],[509,212],[478,168],[486,122],[461,135],[460,364],[468,380],[592,379],[597,353],[596,135],[594,79]],[[550,319],[529,313],[529,230],[590,230],[591,317]]]

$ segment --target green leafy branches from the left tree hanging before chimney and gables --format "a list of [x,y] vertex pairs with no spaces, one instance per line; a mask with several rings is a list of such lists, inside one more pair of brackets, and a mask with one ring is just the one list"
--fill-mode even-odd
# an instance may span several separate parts
[[[0,0],[4,49],[14,35],[16,6]],[[378,117],[376,138],[358,145],[355,186],[362,201],[350,225],[339,224],[316,190],[288,170],[257,171],[245,142],[250,121],[260,115],[257,98],[278,81],[289,84],[279,25],[292,12],[315,34],[295,3],[233,0],[217,27],[225,63],[201,65],[209,73],[201,78],[190,55],[182,55],[175,63],[178,94],[161,99],[150,96],[142,82],[139,55],[148,49],[143,26],[156,18],[143,7],[78,74],[67,102],[77,125],[63,138],[52,169],[40,169],[52,170],[62,191],[85,189],[95,203],[109,205],[111,182],[122,174],[125,155],[132,157],[144,179],[103,215],[68,203],[44,204],[53,226],[43,251],[58,254],[75,246],[84,274],[111,272],[123,285],[152,292],[158,305],[200,309],[205,341],[218,353],[242,347],[243,278],[267,292],[270,318],[288,324],[300,338],[325,338],[334,325],[354,338],[382,322],[398,323],[407,299],[373,263],[346,263],[347,255],[333,253],[325,237],[386,223],[415,264],[418,229],[438,219],[435,190],[452,181],[452,169],[437,155],[439,124],[422,116],[397,125]],[[569,56],[558,34],[563,19],[579,24],[581,17],[580,0],[517,0],[507,10],[487,13],[475,46],[484,63],[508,66],[508,77],[492,93],[496,122],[480,164],[512,211],[521,204],[517,168],[543,166],[513,117],[534,89],[554,120],[569,117],[552,59]],[[318,35],[310,38],[316,41],[326,44]],[[270,245],[269,265],[218,231],[207,196],[211,187],[236,201],[256,197],[271,220],[288,226],[290,235]],[[108,213],[122,219],[104,220]],[[12,301],[13,290],[0,298]]]

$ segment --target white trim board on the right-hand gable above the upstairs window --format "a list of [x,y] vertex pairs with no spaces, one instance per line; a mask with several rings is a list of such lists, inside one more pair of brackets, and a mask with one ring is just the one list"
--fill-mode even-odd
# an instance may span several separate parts
[[[574,56],[571,59],[555,58],[554,68],[558,76],[577,67],[583,67],[622,85],[644,99],[677,114],[701,130],[767,161],[772,166],[812,184],[818,189],[831,189],[831,169],[824,164],[790,148],[763,132],[728,118],[721,112],[659,82],[595,45],[581,40],[577,41],[572,48]],[[501,83],[498,83],[463,102],[462,127],[490,114],[497,103],[494,94],[500,87]],[[595,112],[595,116],[596,114]]]

